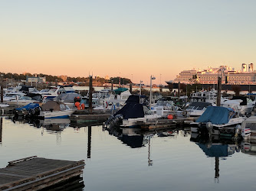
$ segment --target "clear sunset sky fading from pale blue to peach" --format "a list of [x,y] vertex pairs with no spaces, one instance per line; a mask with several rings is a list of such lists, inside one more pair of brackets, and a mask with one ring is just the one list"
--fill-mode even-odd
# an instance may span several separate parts
[[121,76],[256,63],[254,0],[2,0],[0,72]]

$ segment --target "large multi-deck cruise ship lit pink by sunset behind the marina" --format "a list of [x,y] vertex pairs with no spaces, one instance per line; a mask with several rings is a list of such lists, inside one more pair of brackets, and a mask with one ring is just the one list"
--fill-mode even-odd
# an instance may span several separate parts
[[[247,67],[248,66],[248,67]],[[218,68],[208,67],[205,70],[184,70],[176,76],[176,79],[166,83],[200,83],[217,84],[218,76],[222,76],[222,83],[229,85],[256,84],[256,71],[253,63],[241,64],[241,70],[235,70],[229,66],[219,66]]]

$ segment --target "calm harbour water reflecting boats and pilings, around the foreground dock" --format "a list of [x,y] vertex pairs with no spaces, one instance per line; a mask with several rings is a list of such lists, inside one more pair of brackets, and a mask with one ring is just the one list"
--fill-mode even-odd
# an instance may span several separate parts
[[87,191],[256,189],[254,144],[249,147],[255,152],[244,143],[210,144],[195,139],[194,134],[191,138],[189,131],[159,137],[156,132],[136,135],[134,131],[103,131],[101,126],[74,128],[68,123],[32,125],[2,118],[0,167],[33,155],[85,160]]

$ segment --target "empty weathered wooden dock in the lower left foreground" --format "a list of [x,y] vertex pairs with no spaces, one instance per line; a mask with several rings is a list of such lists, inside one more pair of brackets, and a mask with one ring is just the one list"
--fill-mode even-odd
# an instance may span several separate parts
[[54,160],[27,157],[8,162],[0,169],[0,190],[39,190],[79,178],[84,160]]

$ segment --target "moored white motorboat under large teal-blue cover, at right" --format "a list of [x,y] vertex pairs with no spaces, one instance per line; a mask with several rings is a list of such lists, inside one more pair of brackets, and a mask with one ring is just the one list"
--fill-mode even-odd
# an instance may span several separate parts
[[241,125],[245,118],[238,115],[232,108],[208,106],[205,112],[192,122],[191,131],[200,133],[220,134],[222,128]]

